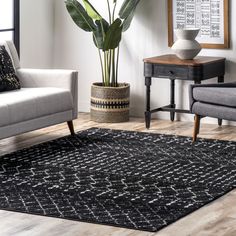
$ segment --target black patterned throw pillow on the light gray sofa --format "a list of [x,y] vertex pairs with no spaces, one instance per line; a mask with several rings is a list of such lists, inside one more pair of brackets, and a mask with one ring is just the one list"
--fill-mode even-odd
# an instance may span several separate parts
[[11,58],[4,46],[0,46],[0,92],[20,89]]

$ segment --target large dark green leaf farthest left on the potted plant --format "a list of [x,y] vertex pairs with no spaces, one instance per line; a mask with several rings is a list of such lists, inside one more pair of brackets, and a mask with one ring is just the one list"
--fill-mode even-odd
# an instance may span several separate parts
[[66,8],[75,22],[81,29],[91,32],[96,29],[93,19],[87,14],[83,6],[76,0],[65,1]]

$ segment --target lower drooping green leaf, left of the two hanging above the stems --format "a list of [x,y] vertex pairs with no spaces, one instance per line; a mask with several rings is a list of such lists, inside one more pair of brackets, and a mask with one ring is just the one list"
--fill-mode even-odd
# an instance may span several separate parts
[[104,40],[109,29],[109,24],[105,19],[96,20],[96,30],[93,31],[93,41],[97,48],[104,49]]

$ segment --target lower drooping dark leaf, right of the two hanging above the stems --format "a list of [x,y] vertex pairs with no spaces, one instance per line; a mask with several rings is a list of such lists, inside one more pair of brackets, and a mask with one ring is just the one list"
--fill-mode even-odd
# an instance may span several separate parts
[[122,21],[119,18],[117,18],[110,25],[104,41],[104,51],[107,51],[109,49],[115,49],[119,46],[121,41],[122,28]]

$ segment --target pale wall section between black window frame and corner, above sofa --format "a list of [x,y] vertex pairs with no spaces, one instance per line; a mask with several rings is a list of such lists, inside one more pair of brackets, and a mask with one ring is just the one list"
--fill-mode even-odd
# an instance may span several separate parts
[[53,64],[54,0],[20,1],[22,67],[51,68]]

